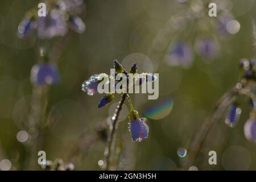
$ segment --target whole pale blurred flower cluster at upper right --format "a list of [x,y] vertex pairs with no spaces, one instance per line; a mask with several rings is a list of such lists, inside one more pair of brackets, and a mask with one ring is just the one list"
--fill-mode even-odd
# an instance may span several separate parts
[[[214,18],[207,16],[209,11],[207,1],[200,1],[196,4],[193,1],[187,3],[191,3],[190,8],[180,18],[174,18],[170,24],[172,27],[180,27],[179,31],[187,31],[185,26],[193,27],[193,32],[190,33],[193,34],[193,40],[176,38],[170,43],[166,53],[168,65],[183,68],[191,67],[195,53],[207,63],[216,59],[221,50],[220,40],[228,38],[229,35],[236,34],[240,30],[240,23],[229,11],[228,1],[218,2],[220,8],[218,8],[218,15]],[[185,31],[181,34],[186,34]],[[172,32],[172,35],[175,35],[174,33]]]

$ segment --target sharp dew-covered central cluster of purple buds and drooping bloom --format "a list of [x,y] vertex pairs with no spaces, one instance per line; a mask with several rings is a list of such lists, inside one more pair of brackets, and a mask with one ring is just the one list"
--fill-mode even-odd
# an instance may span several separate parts
[[[114,60],[114,68],[115,68],[115,75],[118,73],[124,73],[127,76],[127,80],[129,80],[129,73],[123,69],[122,65],[117,61]],[[137,73],[137,64],[134,63],[131,66],[130,73]],[[101,76],[108,76],[105,73],[101,73],[99,75],[93,75],[91,76],[88,80],[84,81],[82,84],[82,90],[86,92],[89,96],[92,96],[94,93],[97,92],[98,84],[102,81],[100,78]],[[114,75],[114,76],[115,76]],[[148,76],[151,76],[151,79],[147,79]],[[110,79],[113,79],[113,75],[108,76]],[[154,81],[156,77],[152,75],[152,73],[141,73],[138,74],[137,77],[134,78],[134,82],[138,81],[139,84],[143,84],[144,82],[147,81]],[[115,81],[115,85],[118,84],[119,81]],[[131,85],[127,85],[129,87]],[[133,85],[132,85],[133,86]],[[122,93],[125,94],[127,101],[129,102],[130,105],[130,112],[129,112],[129,131],[131,133],[131,138],[133,141],[141,141],[145,138],[148,137],[148,126],[146,124],[146,120],[144,118],[139,117],[139,113],[137,110],[133,109],[133,104],[131,103],[130,96],[127,93]],[[108,105],[112,100],[114,99],[114,94],[112,93],[106,93],[104,96],[101,98],[100,102],[98,102],[98,108],[101,108],[103,106]],[[117,119],[115,116],[114,119]]]

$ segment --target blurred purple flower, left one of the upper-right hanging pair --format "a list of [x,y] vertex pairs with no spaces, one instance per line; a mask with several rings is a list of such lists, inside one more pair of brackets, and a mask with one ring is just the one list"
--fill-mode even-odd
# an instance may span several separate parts
[[191,67],[193,61],[193,52],[191,46],[184,42],[176,42],[170,50],[167,64],[171,66],[181,65],[183,68]]

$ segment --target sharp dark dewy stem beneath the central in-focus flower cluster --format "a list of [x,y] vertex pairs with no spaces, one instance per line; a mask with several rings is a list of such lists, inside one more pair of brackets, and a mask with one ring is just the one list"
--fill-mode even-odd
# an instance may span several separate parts
[[119,104],[117,106],[117,109],[115,110],[115,113],[113,115],[114,121],[112,126],[109,127],[109,134],[108,134],[108,144],[106,145],[104,155],[105,155],[105,168],[106,170],[110,170],[111,164],[112,164],[112,152],[114,149],[115,144],[115,137],[116,137],[116,131],[118,129],[118,119],[119,114],[121,113],[123,103],[125,102],[127,94],[123,93],[121,100],[119,101]]

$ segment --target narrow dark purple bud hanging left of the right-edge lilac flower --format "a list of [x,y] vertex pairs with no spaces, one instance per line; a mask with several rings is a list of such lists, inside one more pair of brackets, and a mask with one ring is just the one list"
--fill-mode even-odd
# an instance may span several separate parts
[[230,127],[233,127],[241,115],[241,109],[237,104],[232,104],[229,107],[228,115],[225,119],[225,123]]

